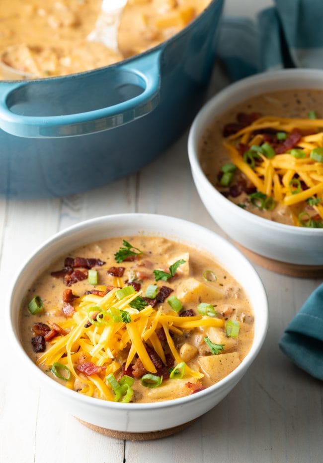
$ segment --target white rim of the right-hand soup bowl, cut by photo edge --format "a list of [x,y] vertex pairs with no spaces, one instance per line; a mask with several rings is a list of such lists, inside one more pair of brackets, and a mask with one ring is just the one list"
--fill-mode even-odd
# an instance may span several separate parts
[[[296,227],[294,225],[287,225],[287,224],[281,224],[279,222],[273,222],[269,219],[265,219],[263,217],[257,216],[256,214],[252,214],[249,211],[245,211],[244,209],[237,207],[236,204],[234,204],[232,201],[229,199],[225,198],[216,188],[215,186],[210,182],[210,180],[206,177],[205,173],[203,172],[203,169],[201,168],[200,161],[199,161],[199,143],[202,137],[203,132],[205,129],[210,125],[210,123],[214,120],[215,116],[217,115],[216,112],[216,107],[219,103],[221,103],[223,100],[226,100],[228,97],[230,97],[232,92],[236,91],[241,91],[243,92],[246,89],[252,88],[254,84],[258,83],[266,83],[271,81],[272,79],[275,78],[280,78],[282,80],[290,80],[293,79],[294,77],[318,77],[318,75],[321,75],[322,80],[323,80],[323,70],[321,69],[308,69],[308,68],[302,68],[302,69],[281,69],[281,70],[276,70],[276,71],[268,71],[268,72],[262,72],[253,76],[245,77],[244,79],[241,79],[237,82],[234,82],[233,84],[228,85],[225,87],[223,90],[221,90],[219,93],[214,95],[197,113],[195,116],[193,123],[191,125],[189,135],[188,135],[188,142],[187,142],[187,149],[188,149],[188,158],[189,162],[191,165],[191,170],[193,177],[194,175],[197,176],[198,180],[201,182],[203,187],[207,190],[207,194],[213,195],[216,197],[216,200],[219,202],[219,204],[223,207],[228,209],[229,208],[229,213],[236,214],[238,217],[241,218],[243,221],[249,221],[253,223],[256,226],[261,226],[264,228],[269,228],[272,229],[273,231],[277,232],[288,232],[290,234],[295,234],[295,235],[304,235],[306,237],[310,237],[311,235],[320,235],[323,234],[323,228],[307,228],[307,227]],[[293,87],[291,87],[291,90]],[[295,87],[295,90],[301,90],[300,87]],[[279,91],[279,89],[277,89]],[[266,93],[266,90],[263,92],[259,92],[258,94],[261,95],[262,93]],[[255,95],[258,95],[255,94]],[[248,98],[242,99],[241,101],[247,101]],[[230,108],[234,108],[235,104],[229,104],[225,110],[221,110],[221,113],[224,111],[229,110]],[[206,116],[209,116],[208,120],[209,122],[207,124],[202,124],[201,119],[204,119]]]

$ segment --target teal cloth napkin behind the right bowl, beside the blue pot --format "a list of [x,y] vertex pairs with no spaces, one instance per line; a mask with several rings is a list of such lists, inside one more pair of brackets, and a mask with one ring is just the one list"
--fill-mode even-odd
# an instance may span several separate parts
[[323,68],[323,1],[276,0],[256,20],[225,17],[219,56],[232,80],[282,68]]

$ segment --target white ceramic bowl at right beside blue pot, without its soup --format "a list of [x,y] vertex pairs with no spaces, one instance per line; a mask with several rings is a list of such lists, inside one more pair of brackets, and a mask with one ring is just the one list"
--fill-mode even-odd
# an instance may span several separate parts
[[322,265],[323,229],[279,224],[244,211],[214,188],[199,162],[199,141],[216,115],[255,95],[291,89],[323,90],[323,71],[292,69],[257,74],[222,90],[194,119],[188,138],[189,161],[201,200],[212,218],[232,239],[271,259],[292,264]]

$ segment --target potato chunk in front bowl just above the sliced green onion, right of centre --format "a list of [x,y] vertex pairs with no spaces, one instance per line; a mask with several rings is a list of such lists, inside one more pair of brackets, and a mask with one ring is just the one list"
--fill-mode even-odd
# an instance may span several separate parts
[[177,288],[176,296],[183,304],[199,302],[214,303],[220,299],[222,293],[210,285],[202,283],[195,278],[187,278],[180,283]]

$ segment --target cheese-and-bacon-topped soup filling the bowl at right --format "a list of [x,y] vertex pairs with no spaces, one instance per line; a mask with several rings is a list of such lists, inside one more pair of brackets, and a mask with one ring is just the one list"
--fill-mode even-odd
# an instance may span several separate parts
[[200,145],[210,182],[248,212],[323,227],[323,92],[264,93],[217,116]]

